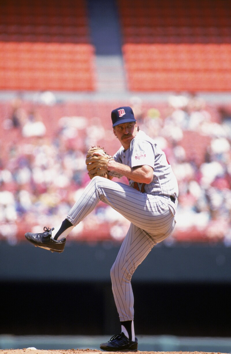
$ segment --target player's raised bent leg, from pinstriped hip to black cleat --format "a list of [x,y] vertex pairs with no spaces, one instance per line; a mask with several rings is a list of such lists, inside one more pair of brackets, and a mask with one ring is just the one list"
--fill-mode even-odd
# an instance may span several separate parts
[[66,241],[64,238],[96,207],[100,200],[113,207],[136,226],[153,236],[157,235],[159,238],[157,242],[166,238],[174,227],[172,226],[174,215],[165,198],[143,194],[126,184],[96,176],[86,186],[83,194],[68,213],[65,220],[69,223],[68,227],[65,226],[63,230],[55,229],[54,236],[56,232],[59,234],[56,240],[51,237],[50,229],[49,232],[44,230],[41,234],[26,233],[26,239],[35,246],[62,252]]

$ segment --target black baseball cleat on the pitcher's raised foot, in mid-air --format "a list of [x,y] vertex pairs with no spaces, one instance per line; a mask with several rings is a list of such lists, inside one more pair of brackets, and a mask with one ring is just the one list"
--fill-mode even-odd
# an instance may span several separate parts
[[49,229],[48,227],[43,228],[44,232],[41,234],[32,234],[31,232],[27,232],[25,234],[25,238],[30,241],[35,247],[41,247],[45,250],[49,250],[51,252],[63,252],[66,239],[56,241],[51,237],[51,232],[54,228]]

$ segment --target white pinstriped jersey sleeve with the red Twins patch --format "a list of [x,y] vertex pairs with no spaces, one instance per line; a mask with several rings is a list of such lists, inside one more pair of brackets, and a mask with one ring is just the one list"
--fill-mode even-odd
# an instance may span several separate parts
[[131,167],[148,165],[154,170],[154,152],[151,143],[138,139],[134,142],[131,154]]

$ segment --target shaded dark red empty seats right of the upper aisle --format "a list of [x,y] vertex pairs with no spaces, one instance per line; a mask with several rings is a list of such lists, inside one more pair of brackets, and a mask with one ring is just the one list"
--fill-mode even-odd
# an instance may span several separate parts
[[229,0],[118,0],[124,43],[230,43]]

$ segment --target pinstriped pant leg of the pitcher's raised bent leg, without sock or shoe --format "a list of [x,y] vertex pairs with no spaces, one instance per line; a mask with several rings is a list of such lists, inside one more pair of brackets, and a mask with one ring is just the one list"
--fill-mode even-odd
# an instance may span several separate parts
[[131,223],[158,237],[165,237],[174,219],[166,198],[147,195],[129,185],[98,176],[87,185],[67,219],[77,225],[96,207],[99,200],[110,205]]

